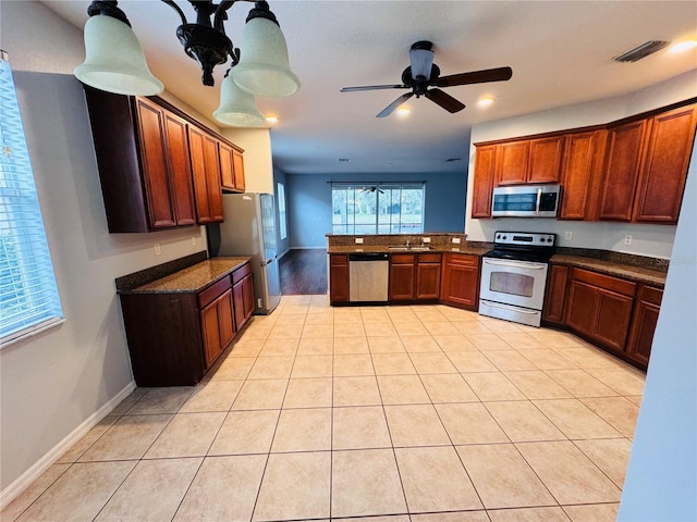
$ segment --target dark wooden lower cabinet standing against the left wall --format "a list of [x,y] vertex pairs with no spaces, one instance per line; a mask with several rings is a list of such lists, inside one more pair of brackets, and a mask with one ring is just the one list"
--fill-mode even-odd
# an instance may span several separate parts
[[191,386],[204,377],[252,316],[249,269],[245,263],[199,291],[119,295],[138,386]]

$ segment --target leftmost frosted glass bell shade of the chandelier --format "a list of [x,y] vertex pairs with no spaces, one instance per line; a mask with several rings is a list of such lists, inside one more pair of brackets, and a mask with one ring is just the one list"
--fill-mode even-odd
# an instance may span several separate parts
[[83,84],[117,95],[152,96],[164,89],[131,27],[105,14],[85,24],[85,61],[73,73]]

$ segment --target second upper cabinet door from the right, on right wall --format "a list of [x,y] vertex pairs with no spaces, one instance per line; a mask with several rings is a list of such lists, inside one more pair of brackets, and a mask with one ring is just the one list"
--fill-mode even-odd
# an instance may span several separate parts
[[600,191],[601,220],[629,221],[640,167],[646,120],[611,128]]

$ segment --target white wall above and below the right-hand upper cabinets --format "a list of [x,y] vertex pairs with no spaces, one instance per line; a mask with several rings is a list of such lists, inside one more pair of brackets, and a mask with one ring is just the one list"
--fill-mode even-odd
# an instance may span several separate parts
[[[476,125],[472,129],[472,142],[504,139],[566,128],[609,123],[662,105],[694,97],[697,92],[697,70],[683,74],[631,96],[552,109],[497,122]],[[469,148],[469,176],[467,209],[472,208],[474,192],[475,147]],[[669,259],[675,236],[674,225],[638,225],[629,223],[594,223],[557,220],[496,219],[473,220],[467,210],[465,232],[467,239],[490,241],[497,229],[522,229],[555,233],[561,247],[599,248],[617,252]],[[571,241],[564,233],[572,232]],[[624,245],[624,237],[632,235],[632,245]]]

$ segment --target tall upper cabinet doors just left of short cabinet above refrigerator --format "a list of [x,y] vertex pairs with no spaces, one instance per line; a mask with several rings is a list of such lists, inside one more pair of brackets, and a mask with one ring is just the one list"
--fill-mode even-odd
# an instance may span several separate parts
[[194,196],[198,223],[223,221],[218,140],[205,130],[188,126],[188,144],[194,174]]

